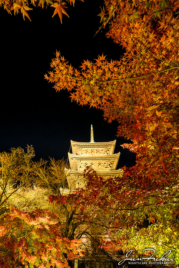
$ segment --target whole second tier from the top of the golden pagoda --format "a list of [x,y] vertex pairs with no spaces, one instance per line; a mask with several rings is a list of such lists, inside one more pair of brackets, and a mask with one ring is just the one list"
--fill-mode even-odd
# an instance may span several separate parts
[[68,153],[70,169],[83,171],[86,166],[91,166],[96,171],[115,170],[118,164],[120,152],[113,155],[73,155]]

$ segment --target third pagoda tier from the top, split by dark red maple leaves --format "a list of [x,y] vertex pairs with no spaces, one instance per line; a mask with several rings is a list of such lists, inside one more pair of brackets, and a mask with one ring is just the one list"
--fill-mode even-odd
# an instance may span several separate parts
[[[78,170],[64,169],[70,190],[74,188],[81,188],[85,186],[84,172]],[[117,169],[112,171],[96,171],[101,177],[122,177],[123,170]],[[67,189],[66,189],[67,190]]]

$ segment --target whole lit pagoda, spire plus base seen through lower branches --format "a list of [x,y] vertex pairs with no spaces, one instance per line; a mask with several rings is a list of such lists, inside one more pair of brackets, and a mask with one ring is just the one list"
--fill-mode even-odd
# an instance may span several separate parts
[[[70,169],[65,169],[69,189],[60,188],[61,194],[69,194],[75,188],[85,186],[84,169],[91,166],[101,177],[122,177],[123,170],[117,169],[120,152],[114,154],[115,141],[95,142],[91,125],[90,142],[71,141],[72,153],[68,153]],[[98,249],[98,240],[110,240],[105,228],[84,223],[75,232],[81,233],[81,249],[84,257],[73,260],[73,268],[112,268],[112,262]],[[102,254],[102,255],[101,255]],[[100,257],[100,258],[99,258]]]

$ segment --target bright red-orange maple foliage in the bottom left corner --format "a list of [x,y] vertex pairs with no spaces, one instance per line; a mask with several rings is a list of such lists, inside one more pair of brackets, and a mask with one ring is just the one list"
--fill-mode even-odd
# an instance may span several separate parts
[[0,222],[0,266],[68,268],[68,259],[82,254],[76,239],[62,236],[58,215],[44,210],[11,208]]

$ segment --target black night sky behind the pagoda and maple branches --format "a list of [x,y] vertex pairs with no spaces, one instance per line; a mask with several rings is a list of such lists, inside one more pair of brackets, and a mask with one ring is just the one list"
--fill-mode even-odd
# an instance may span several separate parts
[[1,131],[0,151],[33,145],[36,158],[67,159],[70,140],[90,141],[93,124],[95,141],[117,140],[115,152],[121,156],[118,167],[131,165],[135,154],[123,150],[123,138],[116,138],[117,123],[107,123],[100,110],[71,102],[67,91],[56,93],[44,80],[55,51],[77,68],[83,60],[104,53],[119,60],[122,49],[105,37],[99,28],[99,6],[103,1],[76,1],[69,7],[70,18],[52,18],[54,8],[29,11],[32,22],[22,15],[9,15],[0,9],[1,20]]

